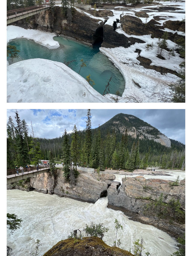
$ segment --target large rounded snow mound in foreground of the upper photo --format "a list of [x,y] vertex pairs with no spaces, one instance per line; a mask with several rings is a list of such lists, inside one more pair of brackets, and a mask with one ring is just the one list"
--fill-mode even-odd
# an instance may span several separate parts
[[28,59],[7,67],[7,102],[111,102],[61,62]]

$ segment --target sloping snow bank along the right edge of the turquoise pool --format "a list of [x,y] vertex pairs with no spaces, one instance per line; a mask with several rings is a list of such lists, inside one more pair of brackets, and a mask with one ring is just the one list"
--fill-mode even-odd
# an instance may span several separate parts
[[[119,102],[126,102],[125,97],[130,95],[136,95],[142,102],[157,102],[158,99],[152,94],[154,92],[170,93],[168,85],[178,80],[178,77],[173,74],[161,75],[155,70],[140,66],[139,61],[136,59],[138,53],[133,51],[134,47],[138,47],[138,45],[136,43],[129,48],[100,48],[100,51],[119,68],[125,79],[125,90],[122,97],[119,97]],[[112,95],[105,96],[110,99]]]

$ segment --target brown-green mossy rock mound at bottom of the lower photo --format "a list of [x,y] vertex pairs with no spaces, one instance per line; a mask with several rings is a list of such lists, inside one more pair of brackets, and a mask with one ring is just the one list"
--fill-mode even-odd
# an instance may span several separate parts
[[81,239],[69,238],[61,240],[43,256],[134,256],[118,247],[111,247],[98,237]]

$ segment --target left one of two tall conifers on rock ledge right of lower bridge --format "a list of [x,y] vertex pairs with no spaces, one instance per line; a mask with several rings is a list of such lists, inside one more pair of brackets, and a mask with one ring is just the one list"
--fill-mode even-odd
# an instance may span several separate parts
[[69,144],[68,144],[68,135],[67,131],[65,129],[64,131],[64,137],[63,137],[63,176],[65,179],[69,180],[70,176],[70,149],[69,149]]

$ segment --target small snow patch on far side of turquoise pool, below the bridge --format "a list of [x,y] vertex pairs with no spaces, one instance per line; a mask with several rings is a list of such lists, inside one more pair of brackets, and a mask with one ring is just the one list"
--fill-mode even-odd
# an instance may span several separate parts
[[17,26],[7,26],[7,43],[16,38],[25,38],[33,40],[49,49],[56,49],[59,43],[53,40],[55,33],[43,32],[34,29],[23,29]]

